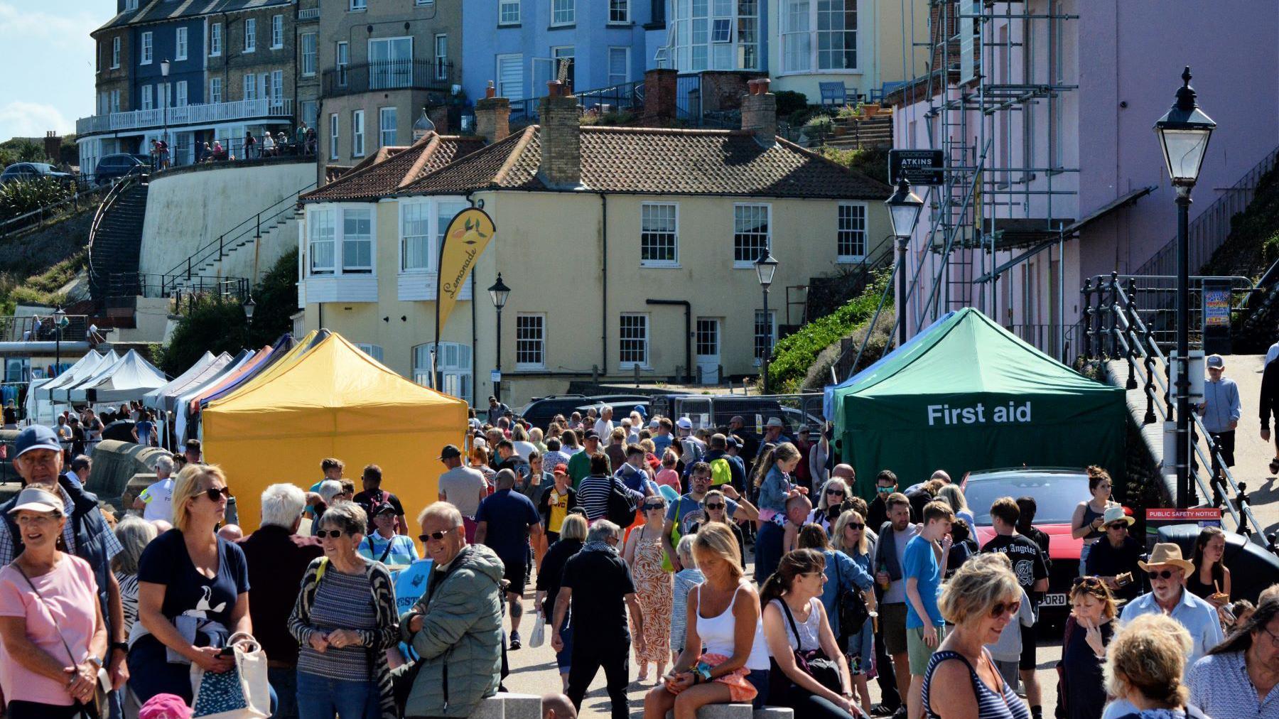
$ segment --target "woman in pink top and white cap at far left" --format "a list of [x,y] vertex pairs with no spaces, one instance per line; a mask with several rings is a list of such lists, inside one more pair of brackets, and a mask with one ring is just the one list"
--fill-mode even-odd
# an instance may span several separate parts
[[106,626],[88,563],[58,550],[61,498],[29,486],[9,514],[24,549],[0,569],[0,686],[10,719],[79,715],[92,702]]

